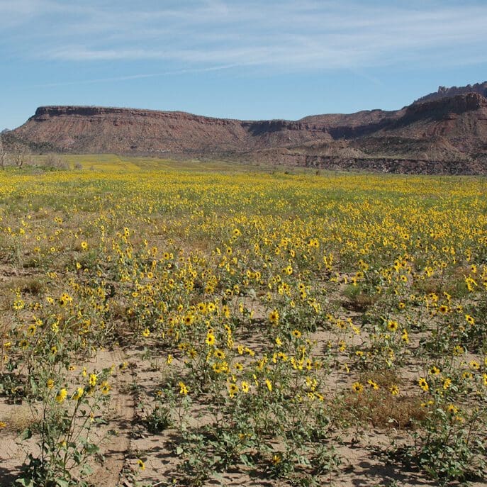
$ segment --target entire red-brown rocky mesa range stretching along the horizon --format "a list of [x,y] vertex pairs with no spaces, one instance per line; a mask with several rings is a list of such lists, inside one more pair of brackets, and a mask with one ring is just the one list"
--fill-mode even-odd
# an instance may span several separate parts
[[397,111],[314,115],[298,121],[43,106],[9,136],[38,152],[114,152],[329,169],[486,174],[486,88],[487,82],[440,89]]

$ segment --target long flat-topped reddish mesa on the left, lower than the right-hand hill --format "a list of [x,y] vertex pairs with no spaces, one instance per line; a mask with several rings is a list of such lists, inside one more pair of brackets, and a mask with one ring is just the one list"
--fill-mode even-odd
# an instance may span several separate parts
[[238,121],[184,112],[44,106],[16,129],[31,142],[70,152],[240,152],[330,138],[320,125]]

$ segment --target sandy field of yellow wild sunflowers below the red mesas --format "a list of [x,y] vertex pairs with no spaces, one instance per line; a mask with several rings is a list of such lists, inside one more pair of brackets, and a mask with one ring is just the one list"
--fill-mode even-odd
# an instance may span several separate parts
[[0,172],[1,485],[485,485],[485,179],[116,159]]

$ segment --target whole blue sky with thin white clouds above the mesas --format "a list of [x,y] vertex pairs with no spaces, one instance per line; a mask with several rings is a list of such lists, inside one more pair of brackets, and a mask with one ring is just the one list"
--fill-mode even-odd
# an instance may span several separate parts
[[0,130],[45,105],[296,120],[487,80],[487,0],[0,0]]

